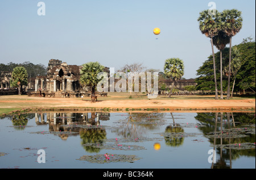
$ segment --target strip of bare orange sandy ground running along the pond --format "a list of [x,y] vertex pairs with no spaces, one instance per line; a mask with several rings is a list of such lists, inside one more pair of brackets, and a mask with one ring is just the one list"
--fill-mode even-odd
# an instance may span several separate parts
[[255,99],[146,99],[146,100],[104,100],[91,103],[81,98],[37,98],[1,99],[0,108],[30,107],[96,107],[96,108],[169,108],[170,110],[255,110]]

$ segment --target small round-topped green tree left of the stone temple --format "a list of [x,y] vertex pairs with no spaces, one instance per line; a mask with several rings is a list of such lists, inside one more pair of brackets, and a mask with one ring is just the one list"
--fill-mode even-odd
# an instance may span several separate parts
[[21,87],[27,86],[27,70],[22,67],[18,66],[13,69],[13,73],[11,73],[11,85],[13,87],[18,87],[19,95]]

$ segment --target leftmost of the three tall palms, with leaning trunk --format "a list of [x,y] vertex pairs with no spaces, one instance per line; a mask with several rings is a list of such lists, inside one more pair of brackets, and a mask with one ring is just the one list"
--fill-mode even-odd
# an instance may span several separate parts
[[216,10],[215,13],[209,13],[208,10],[200,12],[200,16],[197,19],[199,21],[199,29],[202,34],[210,38],[212,44],[212,56],[213,56],[213,70],[214,70],[214,82],[215,82],[215,99],[218,99],[217,78],[216,78],[216,66],[215,56],[213,48],[213,37],[218,35],[218,31],[221,29],[220,13]]

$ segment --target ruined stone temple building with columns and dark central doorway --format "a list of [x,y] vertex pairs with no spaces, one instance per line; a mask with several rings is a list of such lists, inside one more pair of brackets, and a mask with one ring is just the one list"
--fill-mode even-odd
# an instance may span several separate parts
[[[37,76],[35,79],[35,92],[30,96],[43,97],[80,97],[88,95],[89,87],[80,85],[80,70],[82,66],[68,65],[60,60],[49,60],[47,76]],[[109,68],[105,68],[108,72]]]

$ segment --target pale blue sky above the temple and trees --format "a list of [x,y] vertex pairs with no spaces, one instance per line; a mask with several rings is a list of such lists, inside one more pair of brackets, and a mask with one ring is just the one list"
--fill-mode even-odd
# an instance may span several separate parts
[[[38,15],[38,2],[0,0],[0,63],[47,66],[54,58],[70,65],[98,61],[117,70],[140,62],[163,71],[167,58],[178,57],[184,61],[183,77],[195,78],[212,53],[197,22],[211,1],[44,0],[44,16]],[[242,11],[243,27],[232,45],[255,38],[254,0],[213,2],[218,11]],[[155,27],[161,30],[158,36]]]

